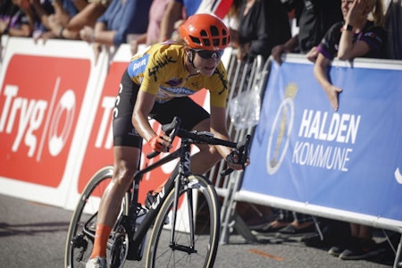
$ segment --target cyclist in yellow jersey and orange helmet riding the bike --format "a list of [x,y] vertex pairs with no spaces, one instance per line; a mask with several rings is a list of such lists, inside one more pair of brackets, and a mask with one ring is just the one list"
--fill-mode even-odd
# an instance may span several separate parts
[[[209,14],[190,16],[179,29],[182,44],[165,42],[132,57],[121,78],[113,109],[114,173],[99,206],[96,238],[86,267],[106,267],[106,243],[120,210],[124,192],[137,172],[143,138],[153,150],[167,152],[172,140],[155,133],[148,119],[160,123],[181,119],[181,128],[211,131],[229,140],[226,99],[229,82],[221,62],[229,45],[229,29]],[[188,96],[207,89],[210,113]],[[228,147],[199,145],[192,156],[191,172],[207,172],[222,157],[234,170],[243,168]]]

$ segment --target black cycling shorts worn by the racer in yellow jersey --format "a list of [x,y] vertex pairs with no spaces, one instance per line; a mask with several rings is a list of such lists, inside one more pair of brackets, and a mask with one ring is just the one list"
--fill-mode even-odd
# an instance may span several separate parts
[[[139,86],[130,79],[128,72],[125,71],[113,109],[113,145],[115,147],[142,147],[142,138],[131,122],[138,89]],[[184,96],[173,98],[163,104],[155,103],[149,114],[150,119],[155,119],[161,124],[170,123],[175,116],[181,119],[180,128],[193,130],[199,122],[209,118],[209,113],[191,98]]]

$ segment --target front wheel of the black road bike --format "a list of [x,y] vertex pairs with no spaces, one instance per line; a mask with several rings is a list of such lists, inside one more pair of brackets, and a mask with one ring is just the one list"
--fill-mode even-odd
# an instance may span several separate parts
[[[214,266],[214,260],[218,250],[219,235],[221,229],[220,203],[216,190],[209,180],[200,175],[190,175],[189,184],[197,183],[197,188],[180,189],[180,202],[183,198],[188,201],[196,215],[196,222],[193,222],[195,240],[194,253],[188,254],[181,250],[173,250],[170,247],[171,230],[166,229],[169,214],[172,211],[174,189],[166,197],[161,211],[155,219],[154,228],[151,231],[147,247],[147,267],[204,267]],[[192,191],[193,197],[188,198],[187,191]],[[191,199],[191,200],[188,200]],[[193,202],[197,199],[197,202]],[[183,205],[184,204],[184,205]],[[196,205],[197,204],[197,205]],[[184,207],[183,207],[184,206]],[[190,247],[188,224],[188,207],[182,203],[178,209],[178,219],[176,224],[174,242],[186,248]],[[170,227],[172,228],[172,226]],[[179,230],[179,228],[181,230]]]

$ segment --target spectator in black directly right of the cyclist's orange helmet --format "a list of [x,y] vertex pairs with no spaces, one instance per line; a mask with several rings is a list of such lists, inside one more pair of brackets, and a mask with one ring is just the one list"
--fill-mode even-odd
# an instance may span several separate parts
[[273,46],[291,36],[289,17],[280,0],[247,0],[239,12],[239,38],[232,46],[239,48],[239,59],[252,60],[256,55],[268,58]]

